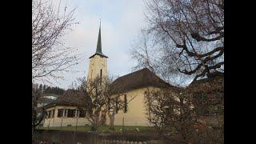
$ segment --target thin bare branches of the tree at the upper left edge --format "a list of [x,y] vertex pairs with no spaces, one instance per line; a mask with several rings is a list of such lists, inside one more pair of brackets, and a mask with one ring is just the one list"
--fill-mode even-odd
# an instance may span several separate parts
[[74,49],[65,46],[63,36],[74,26],[74,10],[54,6],[51,0],[32,1],[32,79],[59,78],[56,72],[77,62]]

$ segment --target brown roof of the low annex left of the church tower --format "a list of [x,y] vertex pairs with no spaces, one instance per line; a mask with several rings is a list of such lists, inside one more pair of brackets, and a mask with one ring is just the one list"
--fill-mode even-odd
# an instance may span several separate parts
[[90,99],[88,96],[86,96],[86,93],[83,93],[78,90],[66,90],[66,92],[59,96],[56,100],[53,102],[50,102],[45,108],[49,108],[52,106],[77,106],[77,107],[83,107],[86,106],[90,102]]

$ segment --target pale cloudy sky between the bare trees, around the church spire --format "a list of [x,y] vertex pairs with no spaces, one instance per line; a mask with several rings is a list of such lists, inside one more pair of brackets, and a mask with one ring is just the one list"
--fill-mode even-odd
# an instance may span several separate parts
[[136,61],[130,58],[129,50],[134,44],[142,26],[143,0],[73,0],[66,2],[67,8],[78,6],[74,18],[78,25],[66,34],[66,46],[78,48],[81,62],[72,67],[76,72],[62,74],[64,80],[54,82],[55,86],[67,89],[76,78],[87,77],[89,57],[95,53],[99,19],[102,22],[102,53],[108,56],[110,75],[129,74]]

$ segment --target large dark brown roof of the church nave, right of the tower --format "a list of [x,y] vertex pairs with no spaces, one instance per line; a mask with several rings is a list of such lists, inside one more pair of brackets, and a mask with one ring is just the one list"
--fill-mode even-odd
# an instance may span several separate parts
[[117,78],[111,86],[114,89],[113,94],[118,94],[146,86],[166,88],[170,87],[170,84],[163,81],[149,69],[144,68]]

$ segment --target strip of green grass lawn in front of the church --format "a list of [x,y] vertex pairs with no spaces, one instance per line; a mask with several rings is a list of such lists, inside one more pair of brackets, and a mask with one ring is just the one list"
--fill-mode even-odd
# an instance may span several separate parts
[[[138,128],[138,130],[136,130]],[[39,130],[76,130],[76,126],[58,126],[58,127],[42,127],[38,128]],[[114,126],[116,133],[122,132],[122,126]],[[149,133],[154,131],[154,127],[152,126],[124,126],[126,132],[133,132],[133,133]],[[90,131],[90,126],[77,126],[78,131]],[[109,126],[99,126],[99,132],[109,132]]]

